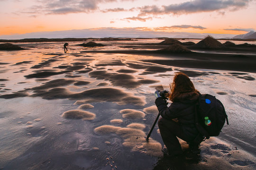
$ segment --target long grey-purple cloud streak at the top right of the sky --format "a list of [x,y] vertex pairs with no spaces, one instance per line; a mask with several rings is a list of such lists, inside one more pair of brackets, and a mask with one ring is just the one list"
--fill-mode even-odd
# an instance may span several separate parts
[[250,0],[192,0],[179,4],[163,5],[159,8],[155,5],[139,8],[139,16],[164,15],[164,14],[190,14],[197,12],[219,11],[220,9],[230,9],[232,11],[244,8]]

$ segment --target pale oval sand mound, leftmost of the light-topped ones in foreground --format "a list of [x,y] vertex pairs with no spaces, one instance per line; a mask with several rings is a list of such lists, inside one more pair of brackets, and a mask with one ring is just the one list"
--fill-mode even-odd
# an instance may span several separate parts
[[93,120],[93,119],[95,119],[96,115],[89,111],[69,110],[69,111],[65,111],[62,114],[62,117],[66,118],[66,119]]

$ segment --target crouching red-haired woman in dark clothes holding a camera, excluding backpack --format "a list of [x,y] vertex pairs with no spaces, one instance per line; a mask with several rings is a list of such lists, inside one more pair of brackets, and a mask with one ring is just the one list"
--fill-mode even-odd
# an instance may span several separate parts
[[[166,147],[162,151],[169,156],[178,156],[183,154],[180,139],[189,144],[190,151],[186,155],[186,159],[192,159],[200,150],[199,144],[203,137],[195,126],[195,107],[199,98],[197,91],[190,80],[184,73],[176,73],[173,83],[171,84],[171,92],[169,99],[171,105],[167,107],[166,98],[157,95],[159,91],[155,91],[157,98],[155,105],[159,110],[162,118],[158,120],[158,127]],[[198,139],[198,142],[195,139]]]

